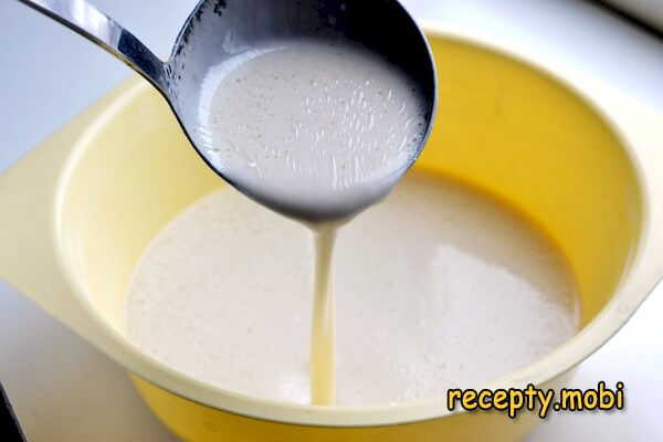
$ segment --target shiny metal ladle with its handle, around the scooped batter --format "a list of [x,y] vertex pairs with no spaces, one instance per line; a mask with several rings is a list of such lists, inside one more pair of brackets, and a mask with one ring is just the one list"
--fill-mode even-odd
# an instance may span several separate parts
[[[143,75],[164,95],[210,168],[250,198],[285,214],[306,219],[302,208],[295,213],[265,198],[261,189],[229,180],[198,140],[200,86],[212,66],[275,39],[347,39],[377,52],[418,84],[425,99],[427,128],[417,154],[431,130],[436,104],[434,62],[422,31],[397,0],[202,0],[185,22],[166,62],[84,0],[19,1],[93,41]],[[325,217],[340,218],[349,214],[344,213],[347,210],[330,208]]]

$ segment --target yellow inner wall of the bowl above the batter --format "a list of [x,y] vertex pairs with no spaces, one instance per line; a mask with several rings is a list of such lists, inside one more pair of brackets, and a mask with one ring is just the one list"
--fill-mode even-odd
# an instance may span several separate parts
[[[628,273],[642,223],[628,148],[577,94],[506,55],[433,36],[439,110],[415,167],[481,188],[538,224],[576,275],[586,326]],[[167,104],[134,84],[84,136],[64,183],[61,225],[93,305],[122,332],[126,286],[150,240],[225,186]],[[168,386],[164,386],[168,387]]]

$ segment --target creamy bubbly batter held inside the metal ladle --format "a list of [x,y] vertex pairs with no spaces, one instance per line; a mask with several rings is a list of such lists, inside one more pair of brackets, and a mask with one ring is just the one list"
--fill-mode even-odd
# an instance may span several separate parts
[[427,128],[415,84],[348,42],[292,40],[243,52],[203,80],[204,154],[286,214],[339,218],[387,194]]

